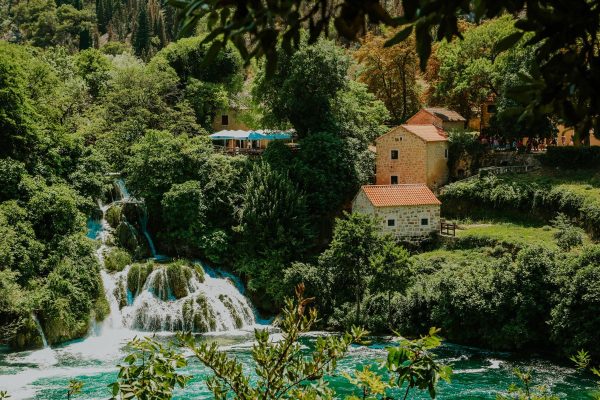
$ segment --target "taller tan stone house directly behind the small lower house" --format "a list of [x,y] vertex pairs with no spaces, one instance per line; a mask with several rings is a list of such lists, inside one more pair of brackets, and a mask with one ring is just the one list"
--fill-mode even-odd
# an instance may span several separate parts
[[448,136],[434,125],[400,125],[376,139],[376,184],[448,182]]

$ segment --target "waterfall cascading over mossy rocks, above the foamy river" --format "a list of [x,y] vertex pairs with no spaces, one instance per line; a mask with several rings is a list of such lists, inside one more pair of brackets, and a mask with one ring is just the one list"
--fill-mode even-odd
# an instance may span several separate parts
[[[102,220],[96,224],[96,239],[101,242],[97,257],[104,266],[104,258],[113,228],[107,222],[107,211],[127,202],[139,202],[131,197],[125,184],[118,179],[115,186],[119,198],[102,205]],[[144,209],[145,210],[145,209]],[[99,225],[99,227],[98,227]],[[142,216],[144,236],[154,259],[154,243],[146,228],[146,215]],[[212,269],[205,273],[199,262],[174,262],[134,264],[122,271],[101,271],[110,315],[102,323],[101,332],[133,329],[142,331],[194,332],[230,331],[256,323],[248,299],[239,290],[239,282],[227,274],[219,276]]]

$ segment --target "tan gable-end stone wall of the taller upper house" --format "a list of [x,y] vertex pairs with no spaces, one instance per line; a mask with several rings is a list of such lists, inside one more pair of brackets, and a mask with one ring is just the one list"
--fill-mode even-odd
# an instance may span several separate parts
[[[391,151],[398,150],[398,159]],[[427,150],[425,142],[401,126],[377,139],[376,183],[389,185],[393,175],[398,183],[427,182]]]

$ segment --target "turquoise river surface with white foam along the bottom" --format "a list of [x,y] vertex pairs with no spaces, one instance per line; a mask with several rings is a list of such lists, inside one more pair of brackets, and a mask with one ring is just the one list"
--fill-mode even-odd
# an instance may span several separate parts
[[[9,352],[0,348],[0,391],[7,390],[12,399],[66,399],[66,387],[70,379],[83,381],[83,393],[75,398],[108,399],[107,385],[117,377],[116,365],[123,358],[123,345],[135,335],[143,333],[120,330],[106,332],[62,346],[38,351]],[[312,346],[314,335],[302,339],[306,348]],[[274,333],[276,339],[279,334]],[[312,336],[312,337],[311,337]],[[159,340],[168,341],[169,334]],[[200,340],[216,340],[223,350],[235,355],[252,375],[251,328],[233,332],[220,332],[202,336]],[[385,358],[385,347],[390,343],[384,338],[372,345],[354,346],[339,363],[339,371],[351,371],[356,367],[378,365]],[[506,393],[511,383],[516,383],[513,369],[531,369],[536,385],[544,385],[553,394],[565,399],[591,399],[597,387],[591,376],[582,374],[568,364],[557,365],[537,358],[519,359],[511,353],[491,352],[476,348],[445,344],[437,351],[440,361],[452,365],[452,382],[439,385],[441,399],[495,399],[498,393]],[[185,373],[194,378],[175,399],[210,399],[204,379],[209,372],[198,362],[190,359]],[[328,378],[339,398],[352,394],[347,381],[340,375]],[[427,399],[426,393],[413,393],[412,399]]]

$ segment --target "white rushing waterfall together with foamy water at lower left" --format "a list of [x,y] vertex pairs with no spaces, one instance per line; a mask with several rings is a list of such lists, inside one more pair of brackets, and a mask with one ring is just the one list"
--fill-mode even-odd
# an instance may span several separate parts
[[[250,346],[254,328],[265,327],[257,324],[254,309],[244,296],[243,285],[237,277],[202,266],[198,261],[180,261],[176,263],[179,265],[175,265],[161,264],[151,259],[128,265],[120,272],[107,271],[104,268],[105,258],[114,248],[115,233],[106,219],[108,210],[127,202],[143,206],[142,202],[129,194],[122,180],[117,180],[115,186],[118,198],[109,204],[99,202],[102,219],[88,224],[89,236],[100,242],[96,256],[102,266],[100,275],[109,304],[109,315],[103,321],[93,323],[85,339],[54,348],[48,346],[41,324],[32,315],[44,348],[15,353],[0,352],[0,390],[8,390],[11,399],[39,398],[38,390],[47,389],[45,382],[48,381],[66,382],[75,376],[114,379],[110,374],[115,373],[115,366],[122,360],[124,346],[136,336],[158,335],[169,340],[175,331],[189,330],[207,332],[208,335],[247,338],[242,341],[247,341],[247,346]],[[146,218],[146,215],[142,218]],[[146,221],[143,221],[141,233],[148,239],[153,259],[164,261],[164,256],[156,255],[145,224]],[[134,228],[131,226],[131,229]],[[169,271],[169,268],[173,270]],[[132,269],[145,270],[146,273],[132,273],[130,276]],[[173,281],[182,273],[186,277],[183,285],[180,280]],[[128,281],[135,283],[135,292],[129,290]],[[175,287],[179,293],[174,292]],[[106,387],[106,384],[102,383],[101,386]],[[108,392],[102,391],[99,397],[88,395],[85,398],[106,398],[105,393]]]

